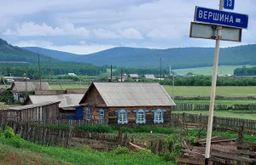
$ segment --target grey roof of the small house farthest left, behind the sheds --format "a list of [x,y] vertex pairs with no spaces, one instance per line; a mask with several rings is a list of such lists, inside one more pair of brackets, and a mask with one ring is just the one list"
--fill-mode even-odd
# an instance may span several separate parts
[[[14,82],[10,88],[12,91],[25,92],[26,91],[26,82]],[[32,91],[40,89],[40,82],[27,82],[27,91]],[[42,90],[50,90],[49,83],[41,83]]]

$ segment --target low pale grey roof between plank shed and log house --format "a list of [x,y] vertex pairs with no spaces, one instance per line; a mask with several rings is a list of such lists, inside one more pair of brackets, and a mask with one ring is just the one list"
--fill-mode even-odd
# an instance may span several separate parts
[[32,104],[44,103],[46,101],[61,101],[60,108],[79,105],[84,94],[59,94],[59,95],[29,95]]

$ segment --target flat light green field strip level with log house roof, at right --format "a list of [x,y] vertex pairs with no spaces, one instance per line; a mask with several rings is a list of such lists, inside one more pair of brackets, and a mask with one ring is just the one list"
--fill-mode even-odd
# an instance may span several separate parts
[[[172,86],[164,85],[168,94],[172,96]],[[256,87],[247,86],[227,86],[217,87],[216,95],[224,97],[246,97],[256,96]],[[195,97],[210,96],[211,87],[195,87],[195,86],[176,86],[174,87],[174,96]]]

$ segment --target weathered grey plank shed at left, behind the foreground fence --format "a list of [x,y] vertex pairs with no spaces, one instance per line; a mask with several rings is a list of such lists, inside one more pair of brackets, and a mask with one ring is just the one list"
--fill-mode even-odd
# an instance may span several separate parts
[[59,113],[60,101],[47,101],[34,105],[22,105],[8,108],[6,117],[9,120],[44,121],[56,120],[60,118]]

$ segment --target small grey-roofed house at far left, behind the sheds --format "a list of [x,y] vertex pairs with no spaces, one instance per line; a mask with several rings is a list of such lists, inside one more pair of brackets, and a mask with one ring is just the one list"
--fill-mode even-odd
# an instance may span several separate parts
[[14,82],[10,88],[11,92],[14,94],[15,100],[21,103],[24,102],[26,92],[31,92],[36,89],[49,90],[49,83],[42,82],[40,86],[40,82]]

